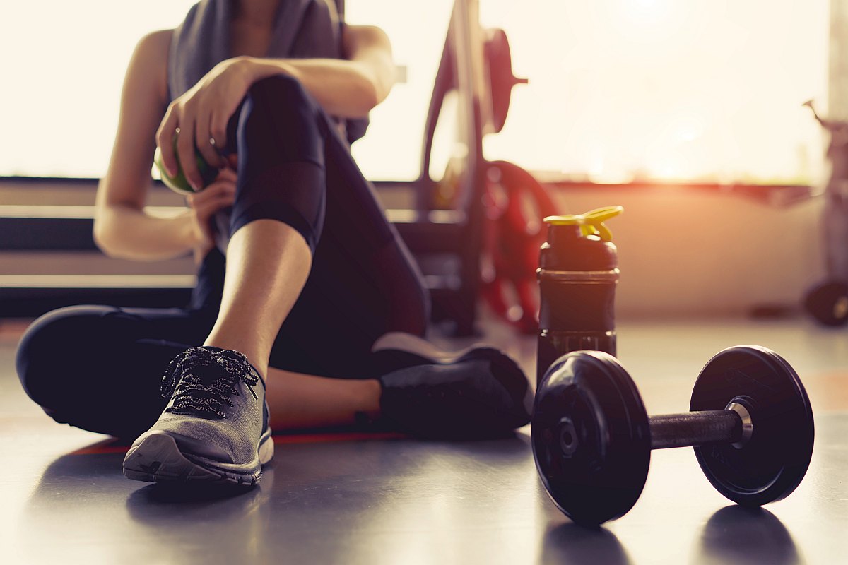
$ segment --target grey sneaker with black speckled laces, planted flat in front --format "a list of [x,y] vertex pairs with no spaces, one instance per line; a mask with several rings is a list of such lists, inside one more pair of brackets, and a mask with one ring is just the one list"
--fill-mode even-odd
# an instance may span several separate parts
[[255,485],[274,457],[265,382],[242,353],[192,347],[162,379],[168,407],[124,458],[128,479]]

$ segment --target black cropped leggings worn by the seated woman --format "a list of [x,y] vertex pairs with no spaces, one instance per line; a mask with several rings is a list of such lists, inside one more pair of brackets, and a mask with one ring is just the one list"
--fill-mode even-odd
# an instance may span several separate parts
[[[389,331],[424,335],[429,302],[410,253],[385,219],[332,121],[297,80],[260,80],[231,120],[238,186],[231,234],[256,219],[291,225],[312,269],[271,351],[271,367],[337,378],[378,375],[371,346]],[[215,324],[226,258],[214,249],[185,308],[74,306],[23,335],[16,366],[27,394],[59,422],[142,433],[167,399],[170,360]]]

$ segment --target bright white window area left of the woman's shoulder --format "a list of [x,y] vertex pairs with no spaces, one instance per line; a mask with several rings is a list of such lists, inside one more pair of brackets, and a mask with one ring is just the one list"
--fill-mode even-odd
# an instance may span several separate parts
[[0,18],[0,175],[100,177],[133,48],[192,0],[26,0]]

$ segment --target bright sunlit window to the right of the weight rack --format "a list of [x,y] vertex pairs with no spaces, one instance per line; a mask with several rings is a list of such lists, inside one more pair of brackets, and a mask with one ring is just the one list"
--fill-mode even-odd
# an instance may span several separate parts
[[828,2],[481,0],[517,75],[490,158],[580,180],[811,183]]

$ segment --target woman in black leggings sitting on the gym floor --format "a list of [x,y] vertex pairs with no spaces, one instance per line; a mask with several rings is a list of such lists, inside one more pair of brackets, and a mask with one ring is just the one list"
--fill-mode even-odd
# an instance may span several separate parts
[[[530,387],[508,357],[421,349],[427,295],[343,139],[393,73],[385,34],[338,25],[326,0],[202,0],[142,38],[94,236],[118,258],[193,252],[198,286],[185,309],[36,320],[17,358],[33,400],[59,422],[142,434],[124,472],[157,481],[252,485],[272,428],[450,438],[527,424]],[[143,209],[156,147],[197,191],[175,218]],[[195,148],[218,169],[208,186]]]

